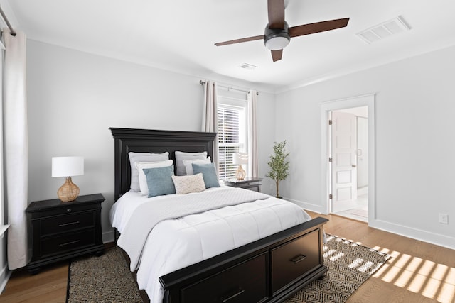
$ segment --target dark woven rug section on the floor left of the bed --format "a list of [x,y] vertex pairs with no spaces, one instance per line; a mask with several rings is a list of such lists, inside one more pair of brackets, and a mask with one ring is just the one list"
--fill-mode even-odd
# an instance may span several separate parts
[[142,299],[127,261],[115,246],[100,257],[88,255],[71,262],[66,302],[142,303]]

